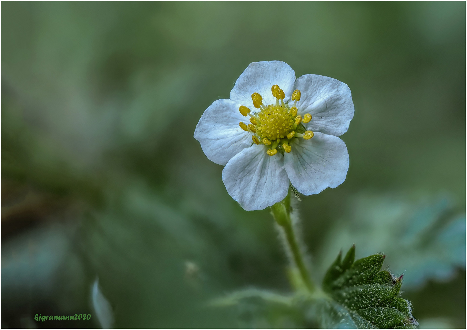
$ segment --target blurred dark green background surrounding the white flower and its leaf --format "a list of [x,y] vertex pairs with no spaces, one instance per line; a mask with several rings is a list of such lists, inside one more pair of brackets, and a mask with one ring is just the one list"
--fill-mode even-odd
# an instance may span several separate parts
[[269,211],[230,198],[193,132],[250,62],[282,60],[346,82],[355,105],[346,181],[299,206],[315,279],[352,243],[384,252],[421,327],[465,328],[465,13],[2,2],[1,326],[274,326],[207,306],[290,284]]

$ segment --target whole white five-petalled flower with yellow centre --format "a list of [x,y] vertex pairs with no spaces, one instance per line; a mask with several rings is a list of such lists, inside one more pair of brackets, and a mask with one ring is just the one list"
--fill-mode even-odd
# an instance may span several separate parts
[[339,136],[353,117],[345,83],[318,75],[295,80],[285,62],[255,62],[230,99],[205,110],[194,137],[207,158],[226,165],[229,195],[247,211],[262,210],[287,196],[289,182],[304,195],[344,182],[349,156]]

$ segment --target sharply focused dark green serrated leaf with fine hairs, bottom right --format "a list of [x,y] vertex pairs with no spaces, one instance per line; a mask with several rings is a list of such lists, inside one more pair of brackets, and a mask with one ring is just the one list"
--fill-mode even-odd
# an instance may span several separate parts
[[398,298],[402,275],[381,270],[385,256],[355,259],[355,246],[344,259],[341,253],[328,269],[323,290],[331,301],[321,299],[310,310],[323,328],[415,328],[410,303]]

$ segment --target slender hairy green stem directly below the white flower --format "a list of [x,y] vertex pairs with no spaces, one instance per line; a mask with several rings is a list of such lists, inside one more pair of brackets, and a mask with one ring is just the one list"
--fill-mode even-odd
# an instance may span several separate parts
[[295,265],[300,272],[304,284],[310,292],[313,292],[315,289],[314,284],[311,282],[308,269],[305,267],[303,256],[297,243],[297,236],[295,235],[292,220],[290,219],[290,192],[283,201],[271,206],[271,212],[277,224],[284,230],[290,252],[292,253]]

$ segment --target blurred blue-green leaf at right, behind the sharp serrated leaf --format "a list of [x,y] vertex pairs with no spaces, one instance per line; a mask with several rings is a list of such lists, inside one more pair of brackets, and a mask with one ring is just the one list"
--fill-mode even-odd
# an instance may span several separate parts
[[335,258],[333,251],[356,243],[360,256],[387,254],[385,264],[404,273],[405,289],[419,289],[430,279],[445,281],[465,268],[465,233],[465,209],[456,207],[449,196],[410,202],[363,194],[352,199],[348,215],[327,234],[324,254],[317,256],[318,273],[325,274]]

